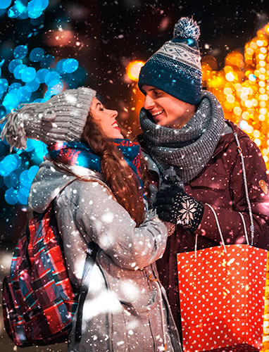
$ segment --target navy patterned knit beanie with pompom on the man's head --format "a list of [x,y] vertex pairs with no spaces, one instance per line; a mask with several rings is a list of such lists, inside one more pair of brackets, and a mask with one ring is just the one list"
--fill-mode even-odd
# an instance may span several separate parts
[[[174,37],[146,61],[139,75],[144,84],[161,89],[175,98],[197,105],[201,101],[201,56],[197,40],[199,25],[192,18],[180,18]],[[142,91],[143,92],[143,91]]]

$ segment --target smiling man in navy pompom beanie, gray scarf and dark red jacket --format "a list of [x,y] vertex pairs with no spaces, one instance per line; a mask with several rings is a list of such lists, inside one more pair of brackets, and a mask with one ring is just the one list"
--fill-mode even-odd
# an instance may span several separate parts
[[[175,229],[158,270],[179,331],[176,253],[194,251],[196,234],[198,249],[219,246],[219,230],[226,244],[246,243],[247,234],[254,246],[269,249],[265,163],[256,144],[224,119],[215,96],[201,90],[199,34],[194,20],[181,18],[138,83],[145,95],[140,142],[160,175],[155,206]],[[184,187],[162,190],[171,166]]]

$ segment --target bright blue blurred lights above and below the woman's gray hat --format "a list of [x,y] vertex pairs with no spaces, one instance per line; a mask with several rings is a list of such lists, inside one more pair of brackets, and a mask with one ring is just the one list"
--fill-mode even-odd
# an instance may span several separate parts
[[[86,77],[75,58],[56,62],[54,56],[39,47],[29,52],[27,45],[18,45],[13,50],[13,57],[8,62],[0,60],[0,118],[21,103],[44,102],[63,89],[76,88]],[[4,72],[7,78],[3,76]],[[44,96],[42,92],[45,92]],[[46,145],[28,139],[25,151],[14,149],[13,153],[7,153],[8,145],[4,140],[0,142],[0,187],[6,189],[4,197],[8,204],[26,205]]]

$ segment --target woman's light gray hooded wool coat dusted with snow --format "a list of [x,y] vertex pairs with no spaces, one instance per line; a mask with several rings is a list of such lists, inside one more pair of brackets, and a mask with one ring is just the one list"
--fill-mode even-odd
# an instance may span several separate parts
[[99,245],[93,270],[86,277],[89,291],[83,306],[82,339],[75,343],[75,315],[68,351],[180,352],[155,265],[165,250],[165,225],[158,217],[148,216],[136,227],[101,174],[79,166],[65,168],[68,170],[49,161],[42,163],[29,206],[42,213],[56,197],[68,275],[77,289],[89,241]]

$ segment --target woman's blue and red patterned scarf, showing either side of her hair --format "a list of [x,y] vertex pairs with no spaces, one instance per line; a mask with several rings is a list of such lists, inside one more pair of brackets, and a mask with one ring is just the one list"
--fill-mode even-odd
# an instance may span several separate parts
[[[129,139],[112,139],[112,142],[123,153],[126,163],[137,175],[139,183],[144,189],[141,180],[141,146],[130,142]],[[48,146],[46,158],[67,165],[78,165],[96,172],[101,172],[100,157],[82,142],[58,142]],[[144,192],[143,192],[144,193]]]

